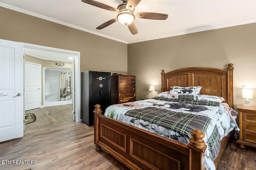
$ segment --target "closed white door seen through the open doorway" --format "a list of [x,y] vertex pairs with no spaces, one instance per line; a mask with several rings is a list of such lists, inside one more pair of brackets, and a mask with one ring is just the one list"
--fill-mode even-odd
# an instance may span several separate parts
[[25,111],[40,107],[41,65],[25,63]]

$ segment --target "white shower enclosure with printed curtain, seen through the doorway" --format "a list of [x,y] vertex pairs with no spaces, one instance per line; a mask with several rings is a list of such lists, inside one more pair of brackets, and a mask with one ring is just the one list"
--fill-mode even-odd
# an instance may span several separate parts
[[72,69],[43,67],[44,106],[72,103]]

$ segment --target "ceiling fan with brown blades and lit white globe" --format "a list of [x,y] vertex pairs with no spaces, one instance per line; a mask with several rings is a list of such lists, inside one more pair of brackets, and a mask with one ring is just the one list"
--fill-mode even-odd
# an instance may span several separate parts
[[122,4],[119,4],[117,8],[113,8],[111,6],[102,4],[101,2],[97,2],[94,0],[82,0],[82,2],[118,13],[116,18],[113,18],[107,22],[104,22],[103,24],[101,24],[96,28],[97,30],[101,30],[102,28],[105,28],[110,24],[113,24],[114,22],[119,21],[121,24],[128,26],[132,34],[137,34],[138,30],[136,25],[133,22],[136,17],[150,19],[150,20],[166,20],[168,18],[167,14],[160,14],[160,13],[154,13],[154,12],[136,12],[134,14],[134,8],[139,4],[140,0],[122,0]]

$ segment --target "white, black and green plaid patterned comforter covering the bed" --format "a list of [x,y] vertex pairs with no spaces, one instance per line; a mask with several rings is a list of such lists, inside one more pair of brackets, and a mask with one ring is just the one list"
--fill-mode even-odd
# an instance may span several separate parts
[[105,115],[183,144],[189,143],[191,130],[201,130],[208,146],[206,167],[212,170],[221,139],[235,126],[220,103],[162,97],[111,105]]

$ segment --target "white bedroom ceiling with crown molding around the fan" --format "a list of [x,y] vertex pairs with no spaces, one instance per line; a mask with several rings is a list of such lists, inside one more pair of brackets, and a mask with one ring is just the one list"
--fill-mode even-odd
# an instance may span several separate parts
[[[121,0],[96,0],[117,8]],[[167,20],[136,18],[138,34],[115,22],[117,13],[81,0],[0,0],[0,6],[124,43],[142,42],[256,22],[256,0],[141,0],[135,12],[168,14]]]

